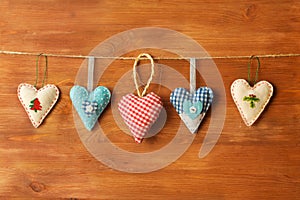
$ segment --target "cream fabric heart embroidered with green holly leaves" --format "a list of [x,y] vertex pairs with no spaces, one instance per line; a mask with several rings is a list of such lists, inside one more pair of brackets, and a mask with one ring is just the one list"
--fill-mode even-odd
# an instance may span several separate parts
[[232,98],[247,126],[260,116],[273,95],[273,86],[260,81],[251,87],[244,79],[237,79],[231,85]]

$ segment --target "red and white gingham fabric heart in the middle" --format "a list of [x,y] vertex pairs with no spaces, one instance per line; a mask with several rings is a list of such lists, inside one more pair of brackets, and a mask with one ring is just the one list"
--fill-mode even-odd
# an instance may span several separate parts
[[127,94],[118,104],[122,118],[138,143],[142,142],[162,107],[160,97],[153,92],[144,97]]

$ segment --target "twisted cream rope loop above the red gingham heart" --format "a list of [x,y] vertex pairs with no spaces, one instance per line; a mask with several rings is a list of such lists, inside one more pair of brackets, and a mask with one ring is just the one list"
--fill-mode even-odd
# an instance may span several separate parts
[[[150,77],[149,77],[149,79],[148,79],[148,81],[147,81],[147,84],[146,84],[146,86],[144,87],[144,90],[143,90],[142,93],[140,93],[140,90],[139,90],[139,85],[138,85],[138,81],[137,81],[137,73],[136,73],[136,67],[137,67],[137,65],[138,65],[138,63],[139,63],[141,57],[146,57],[146,58],[148,58],[148,59],[150,60],[150,62],[151,62],[151,74],[150,74]],[[153,60],[153,58],[151,57],[150,54],[147,54],[147,53],[141,53],[141,54],[138,55],[138,57],[135,59],[134,64],[133,64],[133,80],[134,80],[135,88],[136,88],[136,91],[137,91],[139,97],[143,97],[143,96],[146,94],[147,89],[148,89],[149,86],[150,86],[150,83],[151,83],[151,81],[152,81],[153,76],[154,76],[154,60]]]

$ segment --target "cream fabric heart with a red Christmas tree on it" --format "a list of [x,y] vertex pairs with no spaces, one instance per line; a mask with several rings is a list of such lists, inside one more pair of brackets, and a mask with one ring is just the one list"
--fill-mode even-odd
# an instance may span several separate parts
[[57,102],[58,97],[59,90],[52,84],[39,90],[27,83],[21,83],[18,87],[18,98],[35,128],[43,122]]

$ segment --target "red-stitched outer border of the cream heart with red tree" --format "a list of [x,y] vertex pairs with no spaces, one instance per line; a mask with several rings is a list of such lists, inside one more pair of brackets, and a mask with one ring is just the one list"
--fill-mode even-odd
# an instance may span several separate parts
[[[42,91],[42,90],[44,90],[44,89],[46,89],[46,88],[54,88],[54,89],[55,89],[55,92],[56,92],[55,98],[53,99],[53,101],[51,102],[50,107],[49,107],[48,110],[43,114],[42,118],[40,119],[40,121],[39,121],[38,123],[36,123],[36,122],[32,119],[32,117],[31,117],[31,115],[30,115],[30,112],[29,112],[29,111],[30,111],[29,108],[27,108],[27,106],[25,105],[25,103],[24,103],[22,97],[20,96],[20,90],[21,90],[21,87],[29,87],[29,88],[33,89],[33,90],[36,92],[35,97],[36,97],[36,95],[37,95],[37,93],[38,93],[39,91]],[[47,85],[45,85],[44,87],[42,87],[42,88],[40,88],[40,89],[37,90],[37,89],[36,89],[33,85],[31,85],[31,84],[28,84],[28,83],[21,83],[21,84],[18,86],[17,92],[18,92],[18,98],[19,98],[19,100],[20,100],[22,106],[24,107],[24,109],[25,109],[25,111],[26,111],[26,113],[27,113],[27,115],[28,115],[28,117],[29,117],[29,119],[30,119],[32,125],[34,126],[34,128],[38,128],[38,127],[42,124],[43,120],[44,120],[45,117],[48,115],[48,113],[51,111],[51,109],[52,109],[53,106],[56,104],[56,102],[57,102],[57,100],[58,100],[58,98],[59,98],[59,89],[58,89],[55,85],[53,85],[53,84],[47,84]]]

